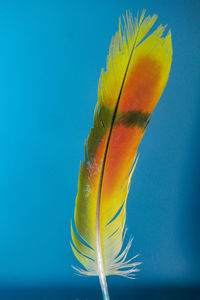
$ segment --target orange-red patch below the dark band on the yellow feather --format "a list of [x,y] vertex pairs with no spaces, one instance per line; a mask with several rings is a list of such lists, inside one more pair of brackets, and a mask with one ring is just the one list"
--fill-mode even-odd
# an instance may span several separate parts
[[128,177],[144,129],[126,127],[122,123],[113,127],[103,178],[102,199],[116,193]]

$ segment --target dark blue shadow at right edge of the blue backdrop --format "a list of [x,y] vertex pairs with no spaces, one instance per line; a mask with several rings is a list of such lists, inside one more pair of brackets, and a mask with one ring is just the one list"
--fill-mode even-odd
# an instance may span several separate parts
[[[196,115],[196,126],[193,128],[193,143],[187,157],[188,172],[184,175],[183,193],[187,195],[182,237],[187,239],[185,243],[186,253],[190,253],[194,270],[200,279],[200,139],[199,139],[199,107]],[[186,184],[188,183],[188,184]],[[197,279],[197,278],[196,278]],[[200,299],[200,298],[198,298]]]

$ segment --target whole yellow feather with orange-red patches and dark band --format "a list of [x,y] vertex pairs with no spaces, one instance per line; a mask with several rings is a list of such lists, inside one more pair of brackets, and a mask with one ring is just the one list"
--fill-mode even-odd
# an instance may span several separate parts
[[[147,36],[157,16],[119,22],[112,39],[106,71],[102,69],[94,126],[85,145],[71,227],[72,250],[83,265],[82,275],[97,275],[104,299],[106,276],[134,277],[138,262],[124,250],[126,199],[137,162],[137,149],[168,80],[171,33],[160,25]],[[122,25],[123,23],[123,25]]]

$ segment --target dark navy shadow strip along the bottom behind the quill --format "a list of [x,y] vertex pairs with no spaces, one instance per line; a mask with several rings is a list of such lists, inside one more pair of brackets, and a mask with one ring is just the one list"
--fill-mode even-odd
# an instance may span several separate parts
[[[200,299],[198,287],[110,287],[111,299],[134,299],[134,300],[197,300]],[[31,287],[31,288],[2,288],[0,299],[3,300],[94,300],[102,299],[101,292],[94,287]]]

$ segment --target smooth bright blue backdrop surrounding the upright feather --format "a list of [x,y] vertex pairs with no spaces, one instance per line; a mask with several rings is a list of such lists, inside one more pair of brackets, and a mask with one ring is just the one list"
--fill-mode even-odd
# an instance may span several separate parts
[[[140,253],[141,272],[108,283],[130,295],[136,287],[200,285],[200,2],[8,0],[0,1],[2,299],[40,299],[10,292],[36,286],[66,289],[55,299],[76,299],[83,286],[80,299],[92,288],[91,299],[100,297],[97,278],[71,269],[70,220],[111,37],[126,9],[135,16],[143,8],[172,29],[173,63],[128,198],[130,255]],[[174,292],[162,295],[156,299]]]

